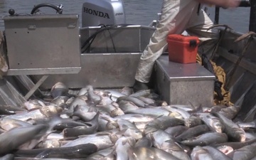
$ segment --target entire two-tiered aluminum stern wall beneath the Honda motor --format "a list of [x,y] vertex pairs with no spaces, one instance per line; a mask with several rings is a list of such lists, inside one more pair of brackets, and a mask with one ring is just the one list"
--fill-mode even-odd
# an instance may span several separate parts
[[[99,30],[100,26],[80,28],[81,45]],[[99,33],[91,44],[89,53],[81,54],[80,73],[50,75],[41,85],[41,90],[50,89],[59,81],[70,88],[85,85],[95,88],[132,86],[139,58],[154,30],[154,27],[131,25],[110,29],[111,36],[109,31]],[[40,78],[41,75],[33,75],[35,82]]]

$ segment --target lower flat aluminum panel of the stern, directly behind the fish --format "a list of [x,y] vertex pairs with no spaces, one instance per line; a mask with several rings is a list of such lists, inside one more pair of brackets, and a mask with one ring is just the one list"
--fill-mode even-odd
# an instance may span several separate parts
[[[92,85],[95,88],[132,86],[141,53],[85,53],[81,55],[82,69],[78,74],[49,75],[41,90],[63,82],[69,88]],[[41,75],[33,76],[37,82]]]

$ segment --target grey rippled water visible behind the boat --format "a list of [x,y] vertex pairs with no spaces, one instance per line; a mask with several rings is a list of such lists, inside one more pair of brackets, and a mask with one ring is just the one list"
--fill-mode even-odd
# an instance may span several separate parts
[[[0,0],[0,18],[8,15],[9,9],[14,9],[16,14],[30,14],[36,4],[51,3],[58,6],[63,4],[63,14],[79,14],[82,12],[82,0]],[[161,0],[124,0],[124,9],[127,23],[149,25],[156,19],[161,11]],[[41,8],[45,13],[55,13],[53,9]],[[210,18],[214,19],[214,7],[208,8]],[[250,7],[238,9],[220,9],[220,23],[228,24],[235,31],[245,33],[249,28]],[[81,16],[80,16],[81,21]],[[4,21],[0,19],[0,29],[4,30]]]

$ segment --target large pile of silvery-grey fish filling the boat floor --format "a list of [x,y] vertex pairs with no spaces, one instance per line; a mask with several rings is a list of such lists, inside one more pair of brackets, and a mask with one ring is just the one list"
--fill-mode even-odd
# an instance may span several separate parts
[[151,90],[70,93],[0,107],[0,159],[256,159],[255,122],[239,106],[168,105]]

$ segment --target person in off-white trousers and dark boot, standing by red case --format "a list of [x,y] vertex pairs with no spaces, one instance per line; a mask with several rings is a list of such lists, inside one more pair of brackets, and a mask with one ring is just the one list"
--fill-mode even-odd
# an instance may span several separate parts
[[149,89],[149,80],[154,67],[154,62],[167,49],[166,38],[169,34],[181,34],[186,31],[190,36],[198,36],[200,40],[198,53],[213,48],[218,33],[208,30],[213,26],[201,4],[221,6],[223,8],[237,7],[238,0],[164,0],[161,16],[156,25],[156,31],[150,38],[139,60],[135,75],[134,92]]

